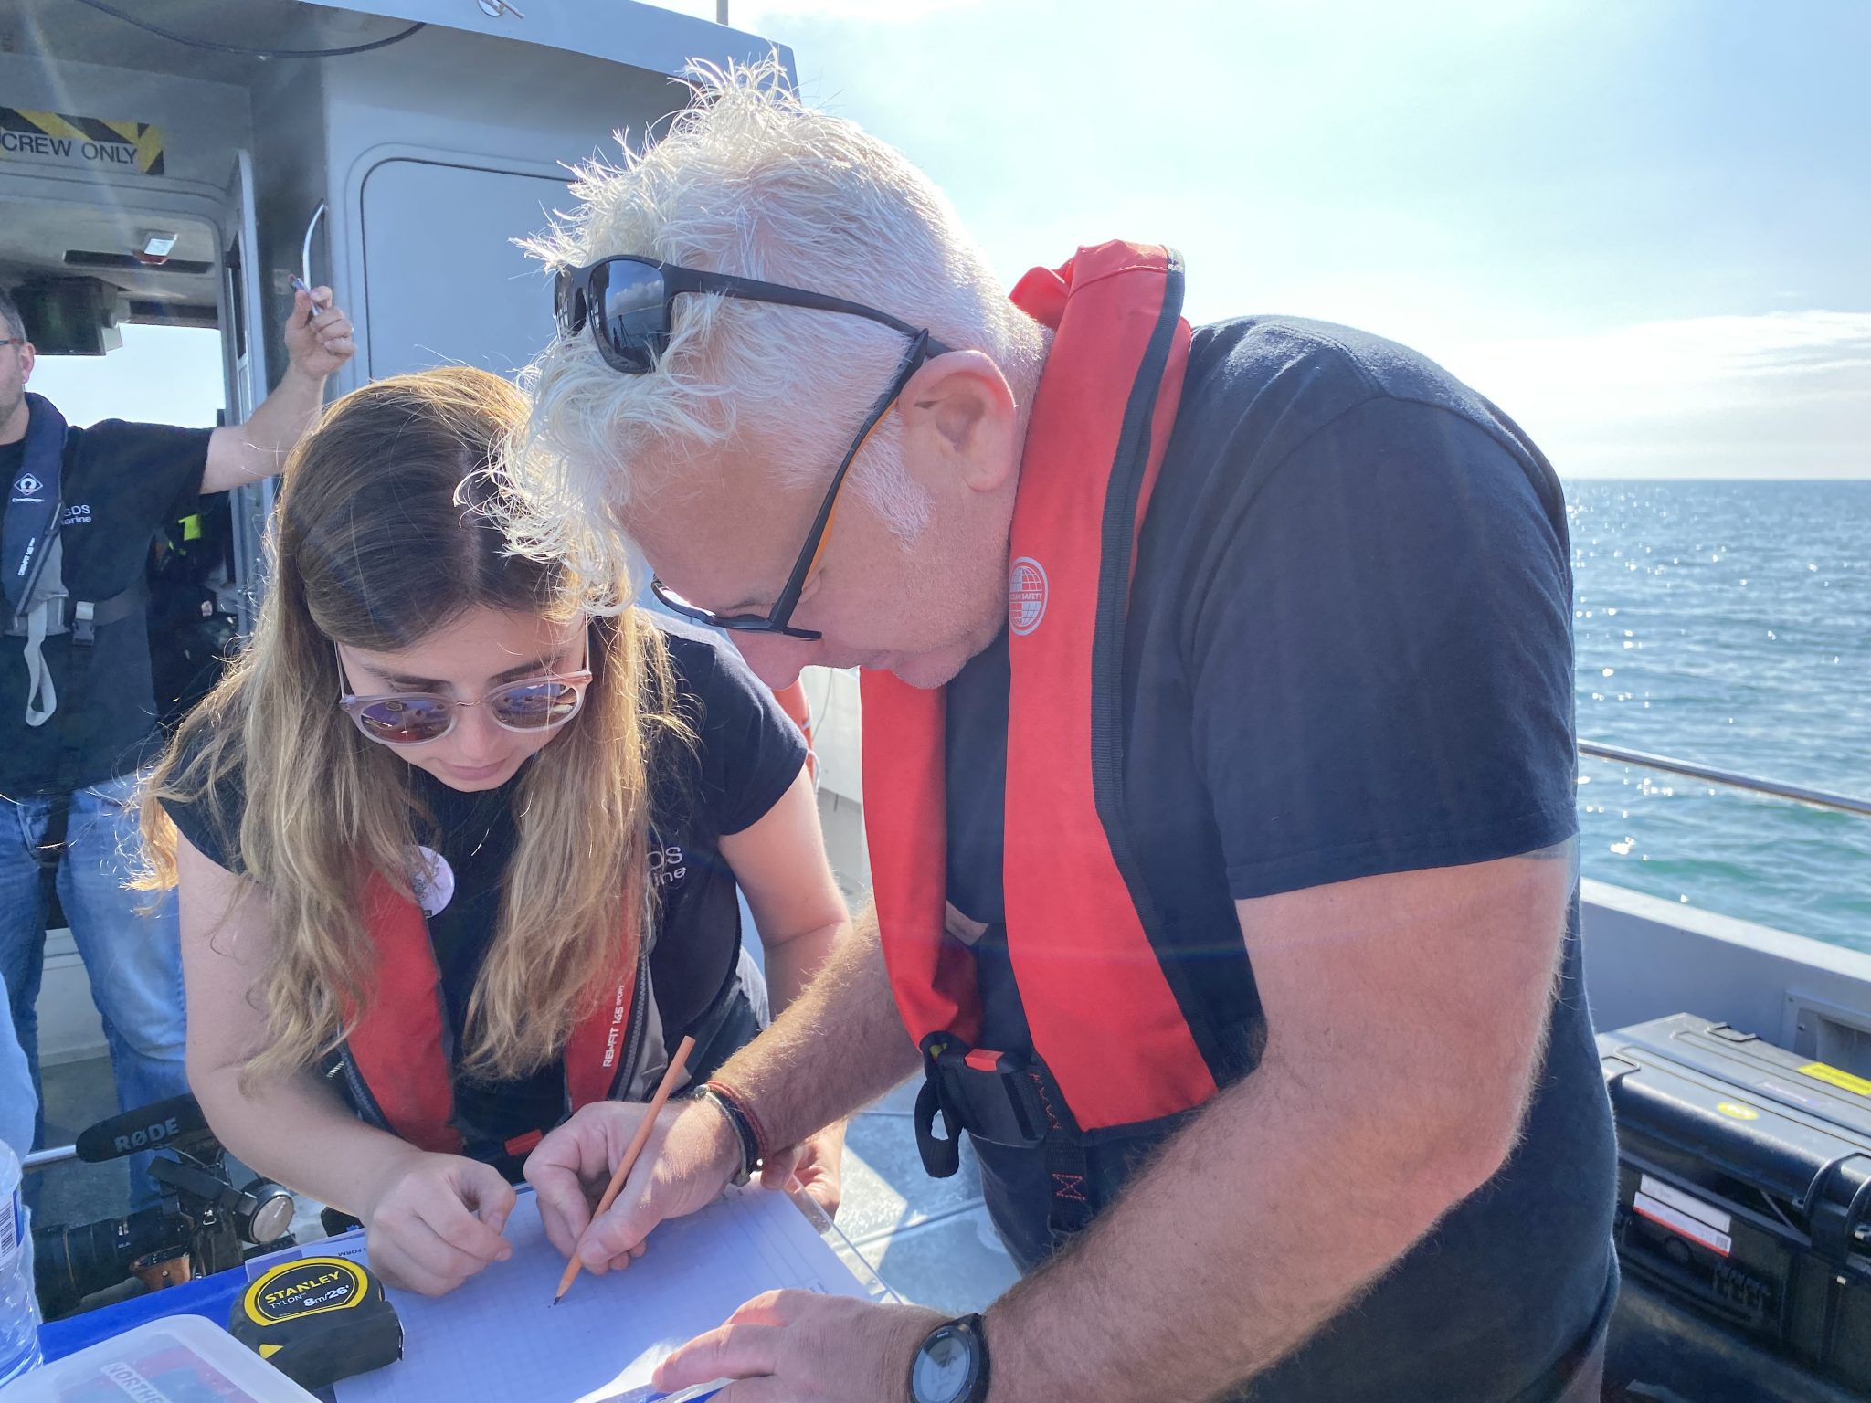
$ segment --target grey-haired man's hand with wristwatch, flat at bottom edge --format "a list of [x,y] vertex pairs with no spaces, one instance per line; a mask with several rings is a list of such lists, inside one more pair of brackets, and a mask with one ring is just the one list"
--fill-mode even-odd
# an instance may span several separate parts
[[922,1306],[769,1291],[662,1360],[655,1384],[674,1394],[743,1381],[715,1403],[902,1403],[917,1347],[945,1319]]

